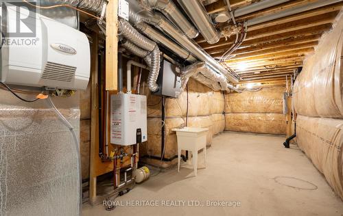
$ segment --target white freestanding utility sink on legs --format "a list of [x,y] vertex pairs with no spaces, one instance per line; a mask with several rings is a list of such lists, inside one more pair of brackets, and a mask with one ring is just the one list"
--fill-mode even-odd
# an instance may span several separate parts
[[196,127],[184,127],[182,129],[171,129],[176,131],[178,137],[178,172],[180,172],[181,150],[189,150],[193,154],[194,175],[198,169],[198,150],[204,149],[204,160],[206,166],[206,134],[209,129]]

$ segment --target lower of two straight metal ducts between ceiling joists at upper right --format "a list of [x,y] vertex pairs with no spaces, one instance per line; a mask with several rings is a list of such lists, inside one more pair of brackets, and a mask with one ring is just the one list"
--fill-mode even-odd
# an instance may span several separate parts
[[251,20],[247,21],[247,25],[251,26],[251,25],[257,25],[259,23],[265,23],[268,21],[272,21],[275,20],[277,18],[283,18],[285,16],[291,16],[293,14],[298,14],[301,12],[305,12],[307,10],[313,10],[316,8],[320,8],[320,7],[324,7],[326,5],[330,5],[332,3],[338,3],[338,2],[342,2],[342,0],[325,0],[325,1],[316,1],[314,3],[309,3],[306,5],[300,5],[298,7],[295,8],[289,8],[287,10],[283,10],[279,13],[276,14],[271,14],[271,15],[266,15],[266,16],[259,16],[257,18],[252,18]]

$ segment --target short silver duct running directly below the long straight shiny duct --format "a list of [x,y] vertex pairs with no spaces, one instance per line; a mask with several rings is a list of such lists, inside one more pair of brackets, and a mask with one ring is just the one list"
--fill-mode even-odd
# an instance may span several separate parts
[[173,51],[174,53],[176,53],[176,55],[182,57],[182,59],[185,59],[189,62],[196,62],[196,58],[193,57],[193,55],[191,55],[189,51],[186,51],[181,46],[178,46],[178,44],[163,36],[163,34],[159,33],[158,31],[150,27],[150,25],[147,25],[147,23],[138,23],[137,25],[135,25],[135,27],[137,27],[139,31],[144,33],[145,36],[151,38],[155,42],[163,44],[167,47],[167,49]]

